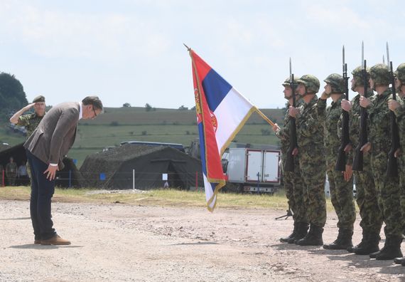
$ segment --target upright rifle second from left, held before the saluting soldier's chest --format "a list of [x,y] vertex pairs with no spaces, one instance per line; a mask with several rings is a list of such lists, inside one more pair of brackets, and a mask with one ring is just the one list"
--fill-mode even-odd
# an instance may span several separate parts
[[[345,98],[349,100],[349,78],[347,77],[347,63],[345,63],[345,46],[342,49],[343,61],[343,81],[345,83]],[[350,142],[349,137],[349,113],[342,110],[342,137],[340,138],[340,147],[338,149],[338,160],[336,160],[335,170],[344,172],[346,170],[346,152],[345,147]]]

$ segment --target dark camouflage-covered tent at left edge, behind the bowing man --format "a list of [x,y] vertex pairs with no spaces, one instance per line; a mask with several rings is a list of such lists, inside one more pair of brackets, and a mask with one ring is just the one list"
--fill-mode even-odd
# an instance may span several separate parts
[[[0,152],[0,164],[6,167],[7,162],[9,162],[10,157],[13,157],[14,162],[17,165],[26,162],[26,150],[23,147],[23,143],[18,144],[13,147],[9,147],[6,150]],[[56,172],[56,183],[57,187],[80,187],[82,182],[82,175],[77,169],[75,163],[69,157],[63,159],[63,164],[65,168],[60,172]]]

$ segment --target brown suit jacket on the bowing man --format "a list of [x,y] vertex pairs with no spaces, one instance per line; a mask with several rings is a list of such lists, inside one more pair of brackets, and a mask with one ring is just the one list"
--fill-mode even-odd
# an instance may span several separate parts
[[80,104],[61,103],[44,115],[24,147],[45,164],[58,164],[63,169],[63,157],[75,142]]

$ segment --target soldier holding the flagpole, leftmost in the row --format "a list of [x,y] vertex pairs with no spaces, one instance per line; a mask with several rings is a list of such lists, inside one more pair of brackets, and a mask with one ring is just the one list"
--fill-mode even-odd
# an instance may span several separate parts
[[[294,82],[296,83],[296,82]],[[284,98],[288,100],[288,105],[293,105],[293,90],[290,85],[290,78],[287,78],[284,83]],[[288,149],[290,147],[290,127],[291,117],[286,112],[284,117],[283,127],[274,124],[273,130],[276,132],[276,136],[281,141],[281,162],[283,169],[283,182],[286,189],[286,197],[288,199],[288,207],[293,211],[294,229],[293,232],[280,241],[283,243],[293,244],[295,240],[303,239],[308,233],[308,219],[306,216],[306,194],[304,193],[303,179],[301,178],[300,166],[298,162],[298,156],[294,157],[294,171],[286,172],[284,170],[286,164],[286,158]]]

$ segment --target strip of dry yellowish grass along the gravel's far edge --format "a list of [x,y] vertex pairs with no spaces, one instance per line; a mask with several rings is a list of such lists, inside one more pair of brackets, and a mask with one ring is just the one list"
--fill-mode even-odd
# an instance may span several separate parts
[[[130,190],[129,190],[130,191]],[[141,194],[94,194],[93,189],[55,189],[53,201],[79,203],[121,203],[144,204],[175,207],[206,207],[204,192],[180,191],[175,189],[155,189]],[[0,187],[0,199],[23,200],[30,198],[29,187]],[[330,199],[327,199],[328,211],[333,211]],[[287,210],[288,204],[284,190],[269,194],[220,193],[217,207],[281,209]]]

